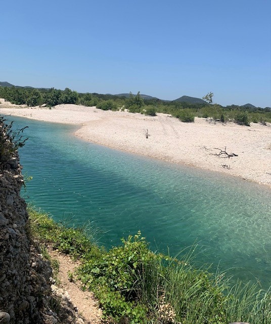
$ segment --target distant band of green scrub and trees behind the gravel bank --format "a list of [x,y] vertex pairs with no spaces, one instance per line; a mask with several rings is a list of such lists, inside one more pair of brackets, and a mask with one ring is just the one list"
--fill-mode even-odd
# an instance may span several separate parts
[[271,108],[256,108],[254,106],[231,105],[223,107],[213,104],[213,93],[203,97],[206,103],[188,103],[179,101],[164,101],[157,98],[144,99],[140,92],[137,95],[130,93],[129,97],[103,95],[98,93],[77,93],[66,88],[32,89],[0,87],[0,98],[14,104],[27,104],[28,106],[47,105],[49,107],[72,103],[85,106],[97,106],[103,110],[127,109],[132,113],[144,113],[155,116],[157,113],[168,113],[179,118],[184,123],[191,123],[195,116],[211,118],[215,122],[226,123],[235,121],[239,125],[249,126],[250,123],[266,125],[271,123]]

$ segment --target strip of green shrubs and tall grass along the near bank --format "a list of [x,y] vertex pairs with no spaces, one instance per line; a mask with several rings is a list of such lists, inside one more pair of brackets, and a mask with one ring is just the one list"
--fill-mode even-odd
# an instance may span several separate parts
[[271,321],[270,292],[241,282],[230,286],[223,273],[197,270],[191,265],[191,253],[181,260],[155,254],[140,232],[107,251],[85,229],[57,224],[33,209],[29,215],[34,238],[80,259],[71,278],[95,293],[107,323]]

